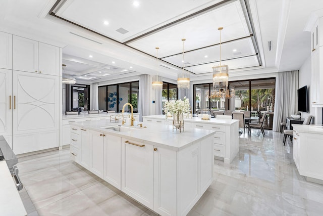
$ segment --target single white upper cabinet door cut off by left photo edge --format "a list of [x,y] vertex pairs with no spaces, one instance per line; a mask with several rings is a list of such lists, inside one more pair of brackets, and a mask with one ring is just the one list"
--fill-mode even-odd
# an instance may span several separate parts
[[12,34],[0,31],[0,68],[12,69]]

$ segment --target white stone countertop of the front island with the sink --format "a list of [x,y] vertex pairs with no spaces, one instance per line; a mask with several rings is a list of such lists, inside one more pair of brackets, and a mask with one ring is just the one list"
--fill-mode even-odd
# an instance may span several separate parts
[[[136,126],[142,123],[147,128]],[[154,123],[146,123],[135,121],[135,126],[122,125],[129,127],[128,131],[118,132],[112,129],[102,128],[110,125],[121,125],[121,123],[110,122],[110,120],[93,120],[93,121],[79,121],[70,122],[71,125],[79,126],[85,129],[101,132],[106,135],[120,136],[133,141],[152,144],[159,147],[169,148],[175,151],[186,148],[200,140],[212,136],[216,131],[209,131],[206,129],[188,128],[183,132],[176,131],[173,125],[161,125]]]

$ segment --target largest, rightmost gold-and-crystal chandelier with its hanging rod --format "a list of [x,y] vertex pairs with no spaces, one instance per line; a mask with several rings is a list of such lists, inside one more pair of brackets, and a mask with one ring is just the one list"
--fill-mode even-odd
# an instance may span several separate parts
[[213,87],[214,88],[227,88],[229,80],[229,68],[228,65],[221,65],[221,30],[223,27],[219,27],[220,31],[220,65],[212,67],[213,69]]

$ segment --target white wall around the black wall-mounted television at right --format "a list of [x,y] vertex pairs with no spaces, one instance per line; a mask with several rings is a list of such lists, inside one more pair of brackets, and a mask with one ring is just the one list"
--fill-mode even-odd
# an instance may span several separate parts
[[305,118],[308,115],[314,116],[314,119],[311,121],[311,124],[322,124],[322,109],[321,108],[316,108],[312,107],[312,99],[311,99],[311,77],[312,77],[312,72],[311,72],[311,56],[309,56],[306,61],[303,63],[302,67],[299,69],[298,73],[298,87],[301,88],[304,85],[307,85],[307,91],[308,91],[308,105],[309,109],[308,112],[301,112],[302,113],[302,118]]

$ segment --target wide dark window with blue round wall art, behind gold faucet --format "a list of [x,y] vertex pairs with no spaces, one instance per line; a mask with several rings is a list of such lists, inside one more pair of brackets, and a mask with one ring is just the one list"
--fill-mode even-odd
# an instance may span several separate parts
[[[104,85],[98,88],[99,109],[121,112],[126,103],[132,104],[134,112],[138,112],[139,81]],[[131,111],[130,106],[125,111]]]

